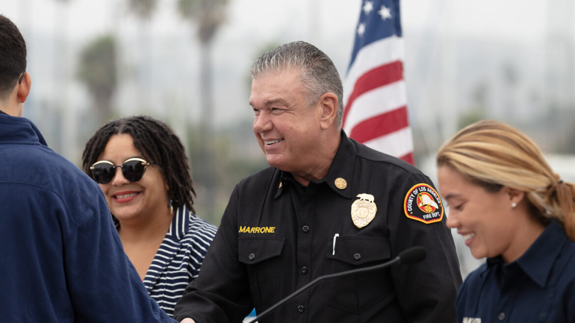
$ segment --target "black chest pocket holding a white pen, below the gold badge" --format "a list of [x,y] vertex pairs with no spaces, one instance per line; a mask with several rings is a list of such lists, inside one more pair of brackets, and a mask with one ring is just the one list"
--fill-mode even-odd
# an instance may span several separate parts
[[[390,259],[389,240],[377,236],[340,236],[328,241],[327,255],[332,273],[384,263]],[[389,269],[372,270],[331,279],[329,305],[361,314],[375,303],[392,302]]]

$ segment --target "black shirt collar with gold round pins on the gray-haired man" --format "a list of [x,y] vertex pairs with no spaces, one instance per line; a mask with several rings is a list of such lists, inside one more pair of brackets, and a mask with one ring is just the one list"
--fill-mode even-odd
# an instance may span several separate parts
[[[342,140],[339,143],[338,151],[333,157],[331,166],[327,175],[322,179],[314,179],[312,183],[327,183],[329,187],[339,195],[345,198],[351,198],[352,174],[355,164],[356,148],[354,143],[347,137],[347,134],[341,130]],[[342,184],[342,179],[345,184]],[[277,198],[283,192],[285,184],[294,181],[292,174],[289,172],[279,171],[279,184],[274,198]],[[336,184],[338,183],[338,184]]]

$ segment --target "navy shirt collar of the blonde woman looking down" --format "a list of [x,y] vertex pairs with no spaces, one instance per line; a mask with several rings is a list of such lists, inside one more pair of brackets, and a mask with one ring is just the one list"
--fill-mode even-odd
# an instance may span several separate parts
[[[535,242],[527,249],[522,256],[514,263],[519,266],[534,282],[541,287],[545,287],[549,274],[555,260],[559,256],[561,246],[567,240],[567,235],[562,226],[556,221],[552,221]],[[493,267],[497,264],[501,266],[511,266],[504,264],[501,256],[487,259],[487,267]]]

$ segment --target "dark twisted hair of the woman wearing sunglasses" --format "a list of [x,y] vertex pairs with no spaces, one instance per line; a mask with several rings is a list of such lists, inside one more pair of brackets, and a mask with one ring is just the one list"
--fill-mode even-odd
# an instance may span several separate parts
[[98,129],[86,143],[82,153],[82,170],[94,179],[90,166],[98,161],[114,134],[127,133],[147,161],[162,170],[168,184],[168,195],[174,208],[185,204],[194,210],[194,182],[185,149],[173,130],[164,122],[148,116],[132,116],[113,120]]

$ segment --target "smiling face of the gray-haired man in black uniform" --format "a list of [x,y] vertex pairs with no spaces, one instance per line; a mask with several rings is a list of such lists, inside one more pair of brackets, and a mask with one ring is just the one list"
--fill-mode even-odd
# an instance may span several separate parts
[[254,133],[267,163],[280,170],[308,172],[321,158],[321,107],[309,106],[299,70],[269,72],[252,82]]

